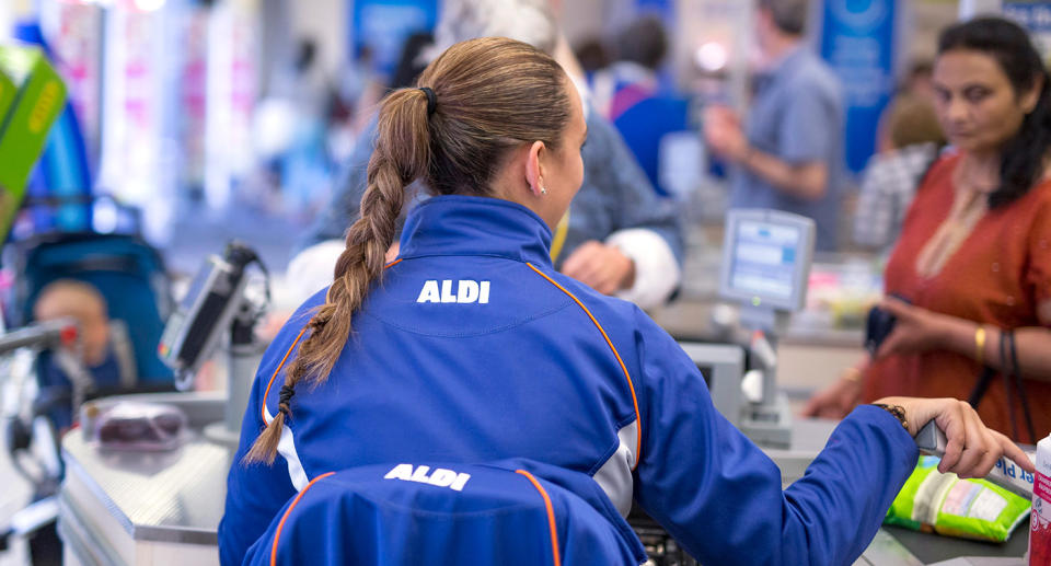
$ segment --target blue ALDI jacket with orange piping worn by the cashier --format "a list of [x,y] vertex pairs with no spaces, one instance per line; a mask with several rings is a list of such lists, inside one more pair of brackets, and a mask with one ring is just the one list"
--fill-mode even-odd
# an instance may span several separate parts
[[324,291],[308,300],[253,385],[222,563],[240,564],[322,474],[508,458],[587,474],[622,515],[634,498],[705,564],[853,563],[916,462],[899,421],[858,407],[783,492],[777,466],[713,407],[674,339],[633,304],[555,272],[550,243],[543,220],[506,200],[419,205],[328,380],[297,388],[280,455],[245,466]]

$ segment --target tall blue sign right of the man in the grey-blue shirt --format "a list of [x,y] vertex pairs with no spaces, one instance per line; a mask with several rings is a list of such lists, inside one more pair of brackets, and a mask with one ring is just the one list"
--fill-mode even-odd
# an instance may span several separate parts
[[876,149],[894,90],[894,0],[824,0],[821,56],[843,85],[846,163],[857,173]]

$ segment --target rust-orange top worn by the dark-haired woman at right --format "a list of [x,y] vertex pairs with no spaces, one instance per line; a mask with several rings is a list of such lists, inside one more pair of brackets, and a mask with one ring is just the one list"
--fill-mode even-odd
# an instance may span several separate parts
[[[905,216],[891,254],[885,290],[931,311],[1000,328],[1040,326],[1037,309],[1051,300],[1051,181],[1006,207],[986,212],[940,272],[923,277],[916,261],[952,207],[952,171],[944,158],[927,175]],[[998,342],[998,340],[997,340]],[[992,345],[995,351],[998,344]],[[887,395],[967,400],[981,373],[973,359],[945,350],[897,355],[866,372],[866,402]],[[1051,383],[1024,380],[1037,436],[1051,432]],[[1007,390],[996,376],[978,407],[990,427],[1012,436]],[[1018,395],[1012,398],[1020,442],[1029,438]]]

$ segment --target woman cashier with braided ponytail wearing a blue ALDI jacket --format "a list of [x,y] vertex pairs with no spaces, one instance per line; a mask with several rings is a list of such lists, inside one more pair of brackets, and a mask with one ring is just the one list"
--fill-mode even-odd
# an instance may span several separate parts
[[[783,493],[777,466],[715,411],[668,334],[552,266],[552,227],[581,184],[586,137],[562,68],[506,38],[453,45],[418,88],[383,101],[334,280],[278,334],[253,384],[219,527],[223,564],[257,558],[264,533],[276,556],[292,507],[336,471],[389,466],[381,480],[457,496],[477,484],[409,463],[523,459],[586,480],[578,495],[624,525],[622,538],[634,499],[706,564],[850,564],[912,471],[910,432],[927,420],[950,439],[945,470],[984,474],[1004,454],[1031,470],[960,403],[890,397],[892,411],[844,419]],[[414,181],[434,197],[409,213],[385,264]],[[365,522],[326,540],[377,528]],[[391,544],[384,527],[369,547]],[[624,547],[645,559],[637,540]],[[300,562],[335,552],[312,548]]]

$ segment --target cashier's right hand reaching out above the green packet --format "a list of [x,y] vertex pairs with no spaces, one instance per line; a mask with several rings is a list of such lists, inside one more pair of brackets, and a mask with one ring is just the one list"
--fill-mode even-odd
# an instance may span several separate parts
[[899,405],[905,409],[909,434],[915,436],[929,420],[945,431],[948,443],[938,472],[967,477],[985,477],[996,461],[1009,458],[1027,472],[1032,462],[1006,436],[988,428],[978,412],[957,398],[883,397],[876,403]]

